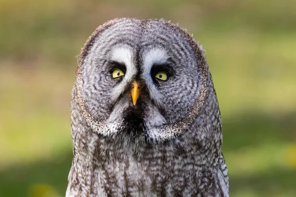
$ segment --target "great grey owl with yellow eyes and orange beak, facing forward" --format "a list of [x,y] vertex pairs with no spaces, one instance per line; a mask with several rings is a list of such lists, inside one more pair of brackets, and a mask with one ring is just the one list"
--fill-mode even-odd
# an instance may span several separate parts
[[163,19],[100,26],[78,57],[66,197],[228,197],[202,47]]

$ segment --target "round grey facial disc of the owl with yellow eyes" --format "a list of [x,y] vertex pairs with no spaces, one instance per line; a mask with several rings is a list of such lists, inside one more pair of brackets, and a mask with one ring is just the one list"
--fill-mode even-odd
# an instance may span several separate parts
[[76,87],[94,131],[155,141],[176,137],[190,124],[202,69],[193,38],[164,22],[116,20],[85,44]]

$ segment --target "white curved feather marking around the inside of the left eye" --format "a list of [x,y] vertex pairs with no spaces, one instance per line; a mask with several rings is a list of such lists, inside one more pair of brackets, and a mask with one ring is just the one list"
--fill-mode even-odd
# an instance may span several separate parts
[[136,66],[133,62],[133,50],[129,46],[117,46],[111,51],[111,61],[123,63],[126,66],[126,73],[120,84],[118,84],[112,91],[111,99],[116,100],[123,93],[125,86],[131,81],[137,73]]

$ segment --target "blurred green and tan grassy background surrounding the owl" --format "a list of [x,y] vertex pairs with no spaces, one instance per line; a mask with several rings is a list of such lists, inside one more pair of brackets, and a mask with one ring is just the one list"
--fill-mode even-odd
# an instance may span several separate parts
[[165,18],[206,50],[232,197],[296,197],[295,0],[0,0],[0,197],[62,197],[70,91],[87,37]]

